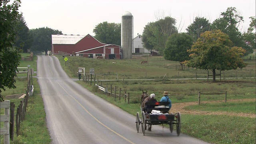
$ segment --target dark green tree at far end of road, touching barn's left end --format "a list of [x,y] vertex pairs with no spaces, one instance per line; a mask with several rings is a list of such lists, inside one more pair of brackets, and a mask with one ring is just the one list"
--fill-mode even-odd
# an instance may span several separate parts
[[34,53],[45,52],[52,49],[52,34],[62,34],[59,30],[43,27],[30,30],[34,40],[31,51]]

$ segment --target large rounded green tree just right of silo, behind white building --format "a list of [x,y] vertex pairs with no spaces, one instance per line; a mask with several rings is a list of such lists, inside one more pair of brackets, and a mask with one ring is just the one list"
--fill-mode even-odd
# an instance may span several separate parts
[[144,28],[142,34],[143,46],[148,50],[153,49],[160,54],[163,54],[168,37],[174,33],[178,33],[175,25],[176,20],[169,16],[161,18],[156,22],[149,23]]

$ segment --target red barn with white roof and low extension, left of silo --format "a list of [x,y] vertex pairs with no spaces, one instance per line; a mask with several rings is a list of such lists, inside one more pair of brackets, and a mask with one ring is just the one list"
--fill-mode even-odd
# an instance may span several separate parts
[[90,34],[52,34],[52,54],[82,56],[87,58],[120,59],[121,48],[116,44],[104,44]]

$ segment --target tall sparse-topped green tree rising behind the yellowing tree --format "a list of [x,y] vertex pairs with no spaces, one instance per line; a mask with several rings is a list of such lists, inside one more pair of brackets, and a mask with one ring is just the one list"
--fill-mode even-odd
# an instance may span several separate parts
[[240,24],[244,22],[243,17],[240,16],[234,7],[230,7],[226,12],[222,12],[221,16],[222,18],[218,18],[212,23],[212,30],[221,30],[225,34],[228,34],[234,44],[233,46],[242,47],[246,50],[246,55],[250,54],[252,48],[246,45],[242,33],[238,30]]

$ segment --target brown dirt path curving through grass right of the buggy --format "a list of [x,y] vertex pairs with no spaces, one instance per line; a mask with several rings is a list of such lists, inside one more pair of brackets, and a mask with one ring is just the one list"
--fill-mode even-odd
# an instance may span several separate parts
[[[227,100],[227,102],[251,102],[251,101],[256,101],[255,98],[252,99],[240,99],[240,100]],[[224,102],[224,100],[214,100],[214,101],[206,101],[206,102],[201,102],[203,103],[212,103],[212,102]],[[181,102],[181,103],[175,103],[172,104],[172,112],[180,112],[181,114],[207,114],[207,115],[220,115],[220,114],[225,114],[229,116],[245,116],[245,117],[250,117],[250,118],[255,118],[255,114],[246,114],[246,113],[236,113],[236,112],[205,112],[205,111],[200,111],[200,110],[185,110],[185,106],[190,106],[190,105],[196,105],[198,102]]]

